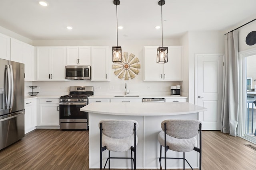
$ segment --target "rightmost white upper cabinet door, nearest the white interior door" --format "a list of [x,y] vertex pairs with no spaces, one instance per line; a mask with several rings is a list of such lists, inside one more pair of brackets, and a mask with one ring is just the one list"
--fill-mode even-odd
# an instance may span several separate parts
[[168,46],[168,62],[164,64],[164,80],[182,80],[181,46]]

